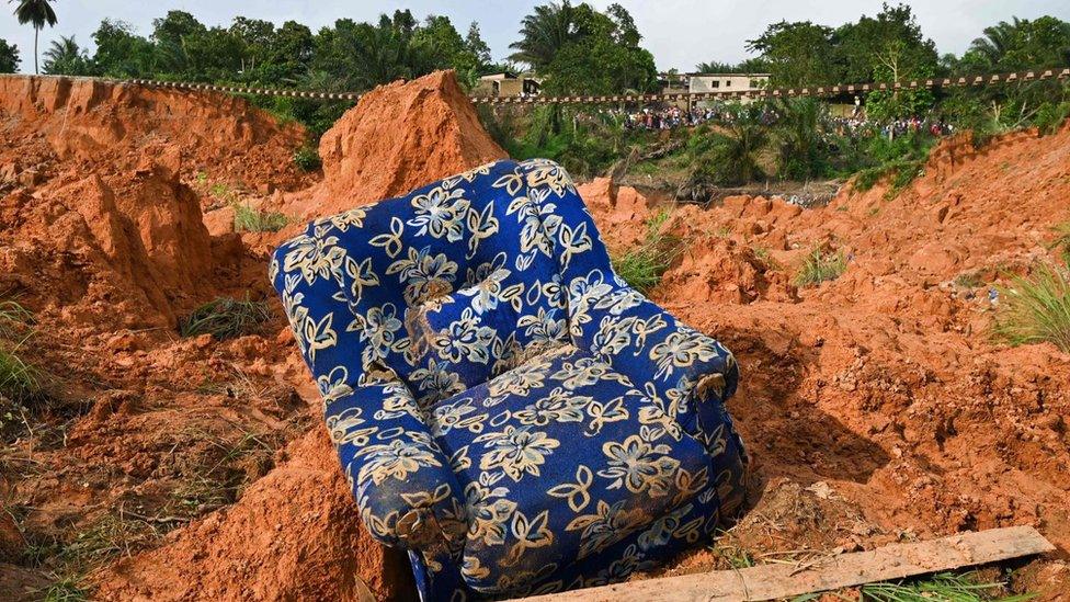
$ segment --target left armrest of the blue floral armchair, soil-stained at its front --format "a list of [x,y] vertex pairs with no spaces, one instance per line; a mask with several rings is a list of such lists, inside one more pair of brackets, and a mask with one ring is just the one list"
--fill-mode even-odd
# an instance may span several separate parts
[[436,555],[467,531],[463,490],[409,388],[369,343],[374,326],[350,310],[345,253],[309,230],[274,254],[270,275],[305,363],[361,516],[380,542]]

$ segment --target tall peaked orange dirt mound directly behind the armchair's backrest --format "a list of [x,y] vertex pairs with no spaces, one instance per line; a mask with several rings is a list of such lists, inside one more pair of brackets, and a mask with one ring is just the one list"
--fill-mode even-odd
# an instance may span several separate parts
[[320,139],[323,181],[283,202],[305,219],[403,194],[505,158],[453,71],[380,86]]

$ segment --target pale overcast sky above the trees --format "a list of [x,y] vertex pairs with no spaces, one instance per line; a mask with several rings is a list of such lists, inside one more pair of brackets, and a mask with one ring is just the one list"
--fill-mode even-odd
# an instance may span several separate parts
[[[770,23],[810,20],[824,25],[840,25],[862,14],[880,11],[881,0],[618,0],[633,14],[644,35],[644,45],[653,53],[658,68],[693,70],[706,60],[736,63],[747,56],[743,48]],[[509,55],[509,44],[516,38],[520,21],[531,12],[532,0],[408,0],[403,2],[355,0],[163,0],[162,2],[118,0],[56,0],[59,23],[41,33],[42,49],[60,35],[76,36],[82,46],[91,46],[90,34],[104,18],[122,19],[144,35],[151,31],[152,19],[168,10],[193,13],[207,25],[227,25],[237,14],[265,19],[281,24],[287,20],[305,23],[315,32],[340,18],[374,20],[382,12],[411,9],[418,19],[445,14],[464,34],[468,23],[478,21],[494,59]],[[611,1],[595,0],[599,8]],[[1070,21],[1068,0],[931,0],[908,1],[914,9],[925,35],[936,41],[941,54],[961,54],[981,30],[1011,16],[1033,19],[1044,14]],[[0,38],[19,46],[22,70],[33,71],[33,29],[19,25],[11,14],[14,7],[0,2]],[[7,10],[3,10],[7,9]]]

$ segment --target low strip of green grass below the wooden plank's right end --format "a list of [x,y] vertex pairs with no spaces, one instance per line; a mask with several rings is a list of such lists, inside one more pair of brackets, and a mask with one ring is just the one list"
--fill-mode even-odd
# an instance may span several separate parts
[[942,572],[919,580],[870,583],[862,587],[861,600],[875,602],[1022,602],[1033,594],[1003,597],[999,590],[1004,583],[979,583],[971,572],[954,575]]

